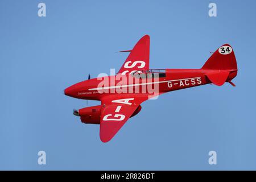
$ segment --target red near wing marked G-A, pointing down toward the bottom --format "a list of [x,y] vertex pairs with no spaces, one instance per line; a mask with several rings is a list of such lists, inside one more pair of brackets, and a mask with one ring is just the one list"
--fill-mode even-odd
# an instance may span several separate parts
[[[106,96],[102,98],[100,138],[102,142],[109,142],[121,129],[125,122],[137,111],[147,97],[134,97],[134,94],[125,96]],[[138,110],[138,111],[139,111]]]

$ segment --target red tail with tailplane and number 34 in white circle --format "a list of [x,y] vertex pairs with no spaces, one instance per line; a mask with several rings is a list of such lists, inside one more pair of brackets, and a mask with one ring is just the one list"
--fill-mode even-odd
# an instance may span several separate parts
[[233,48],[229,44],[224,44],[213,53],[201,69],[205,70],[205,75],[209,80],[218,86],[225,81],[230,82],[237,76],[237,61]]

